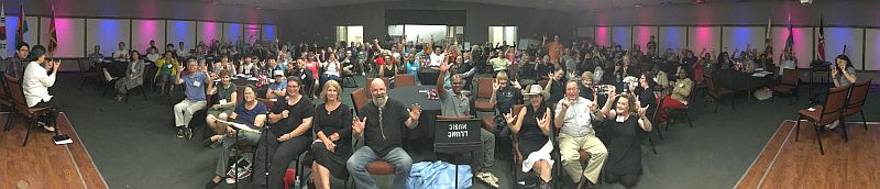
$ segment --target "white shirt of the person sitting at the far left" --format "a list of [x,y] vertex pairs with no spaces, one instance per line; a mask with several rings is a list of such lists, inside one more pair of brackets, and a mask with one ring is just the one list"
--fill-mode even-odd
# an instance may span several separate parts
[[55,75],[46,75],[46,68],[40,66],[36,62],[31,62],[24,68],[24,80],[22,88],[24,89],[24,101],[28,107],[34,107],[40,101],[48,102],[52,96],[48,94],[48,88],[55,85]]

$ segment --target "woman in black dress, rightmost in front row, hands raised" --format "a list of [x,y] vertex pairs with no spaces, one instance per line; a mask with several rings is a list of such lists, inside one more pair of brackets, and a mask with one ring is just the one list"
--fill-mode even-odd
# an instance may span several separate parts
[[[614,98],[617,98],[617,105],[612,104]],[[615,109],[610,110],[612,107]],[[639,101],[631,94],[617,96],[612,90],[602,108],[602,113],[609,119],[604,130],[606,140],[603,141],[608,148],[608,158],[602,174],[607,182],[620,182],[626,188],[632,188],[641,175],[639,130],[651,131],[651,122],[645,116],[646,108],[639,107]]]

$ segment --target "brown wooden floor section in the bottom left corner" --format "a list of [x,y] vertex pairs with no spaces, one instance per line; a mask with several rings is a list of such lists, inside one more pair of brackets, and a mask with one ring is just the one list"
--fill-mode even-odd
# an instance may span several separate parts
[[[0,114],[3,125],[10,113]],[[22,147],[28,120],[18,116],[14,127],[0,133],[0,188],[15,188],[26,181],[30,188],[107,188],[82,142],[62,113],[58,126],[74,141],[55,145],[51,133],[32,131],[28,146]]]

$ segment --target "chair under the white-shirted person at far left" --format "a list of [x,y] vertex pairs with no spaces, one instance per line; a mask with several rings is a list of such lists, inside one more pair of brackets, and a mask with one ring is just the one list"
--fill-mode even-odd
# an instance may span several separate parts
[[[9,86],[9,96],[12,97],[12,103],[14,103],[18,113],[31,119],[31,122],[28,124],[28,134],[24,135],[24,142],[22,143],[22,146],[26,146],[28,138],[31,136],[31,130],[36,126],[36,119],[51,113],[53,108],[29,108],[26,101],[24,100],[24,90],[21,86],[21,82],[15,78],[9,77],[8,75],[3,75],[3,78],[7,86]],[[58,132],[58,127],[56,125],[53,126],[55,126],[55,132]]]

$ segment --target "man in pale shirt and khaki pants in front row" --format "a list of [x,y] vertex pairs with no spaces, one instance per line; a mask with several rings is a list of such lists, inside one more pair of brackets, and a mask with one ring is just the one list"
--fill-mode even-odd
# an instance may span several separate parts
[[[572,180],[578,184],[578,188],[593,185],[598,180],[602,166],[608,156],[608,149],[596,137],[593,124],[590,123],[593,120],[602,119],[595,118],[600,114],[595,113],[597,107],[595,101],[580,97],[578,81],[569,80],[565,84],[565,98],[560,100],[556,108],[557,116],[553,119],[553,124],[557,129],[562,129],[562,132],[559,133],[562,166]],[[581,167],[580,151],[590,154],[585,169]]]

